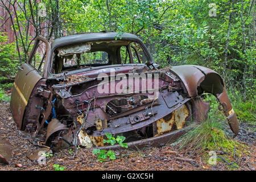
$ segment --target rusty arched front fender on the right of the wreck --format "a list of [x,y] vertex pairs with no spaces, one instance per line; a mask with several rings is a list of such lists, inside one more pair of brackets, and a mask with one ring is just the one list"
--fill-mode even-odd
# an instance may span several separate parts
[[189,97],[197,97],[204,92],[213,94],[222,106],[230,129],[238,134],[237,115],[232,109],[224,81],[217,72],[198,65],[180,65],[172,67],[171,71],[183,82]]

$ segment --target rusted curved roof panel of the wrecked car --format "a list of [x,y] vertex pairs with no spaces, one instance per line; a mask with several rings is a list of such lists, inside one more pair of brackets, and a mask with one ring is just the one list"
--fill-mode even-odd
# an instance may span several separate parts
[[51,47],[61,46],[65,44],[71,44],[75,42],[85,42],[85,41],[93,41],[93,40],[140,40],[138,36],[129,33],[118,33],[118,32],[89,32],[82,34],[74,34],[63,36],[61,38],[57,38],[53,40]]

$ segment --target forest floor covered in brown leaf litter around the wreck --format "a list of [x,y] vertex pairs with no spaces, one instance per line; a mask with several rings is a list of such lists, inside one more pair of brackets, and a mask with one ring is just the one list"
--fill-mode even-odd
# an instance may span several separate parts
[[[0,163],[2,170],[49,170],[53,171],[53,164],[59,164],[68,170],[165,170],[165,171],[194,171],[194,170],[255,170],[256,150],[255,150],[255,125],[241,123],[240,134],[235,139],[238,142],[249,146],[250,153],[242,153],[238,158],[237,165],[229,165],[224,160],[217,160],[216,165],[208,164],[209,151],[198,151],[197,154],[190,154],[185,149],[179,150],[176,145],[166,144],[160,148],[144,148],[141,150],[120,150],[115,151],[119,159],[98,162],[97,156],[92,154],[92,150],[79,148],[77,156],[73,148],[61,150],[46,160],[46,164],[38,164],[36,160],[28,159],[29,152],[38,150],[35,141],[43,143],[44,135],[31,139],[30,134],[17,129],[16,123],[11,115],[9,102],[0,102],[0,139],[7,139],[13,146],[13,157],[10,164]],[[226,126],[228,130],[228,125]],[[231,133],[230,133],[231,134]],[[31,141],[34,142],[31,142]],[[221,155],[218,154],[217,155]],[[232,155],[225,155],[229,162],[233,162]]]

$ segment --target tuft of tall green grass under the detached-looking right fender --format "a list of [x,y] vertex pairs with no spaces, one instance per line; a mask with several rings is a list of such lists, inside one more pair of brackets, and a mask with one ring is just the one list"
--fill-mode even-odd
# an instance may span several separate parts
[[191,125],[191,129],[179,139],[180,148],[186,148],[191,153],[197,150],[233,152],[234,148],[238,149],[238,153],[243,151],[245,146],[225,133],[228,122],[224,113],[218,110],[216,97],[206,94],[204,101],[210,102],[208,118],[205,122]]

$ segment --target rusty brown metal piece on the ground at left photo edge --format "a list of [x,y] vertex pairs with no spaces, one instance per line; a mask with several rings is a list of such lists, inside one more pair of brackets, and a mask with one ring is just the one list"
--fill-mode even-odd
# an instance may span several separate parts
[[6,139],[0,139],[0,162],[9,164],[12,154],[11,143]]

